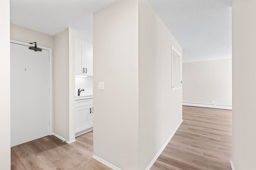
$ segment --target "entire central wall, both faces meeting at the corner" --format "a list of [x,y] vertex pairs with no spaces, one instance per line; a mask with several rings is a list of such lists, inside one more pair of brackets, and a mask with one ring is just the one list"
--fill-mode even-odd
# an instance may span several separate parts
[[119,0],[94,14],[94,156],[144,170],[182,121],[171,45],[182,54],[146,0]]

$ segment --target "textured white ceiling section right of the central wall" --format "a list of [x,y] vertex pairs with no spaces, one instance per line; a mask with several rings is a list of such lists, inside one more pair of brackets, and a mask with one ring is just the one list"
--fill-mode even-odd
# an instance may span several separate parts
[[148,0],[183,49],[183,62],[232,57],[232,0]]

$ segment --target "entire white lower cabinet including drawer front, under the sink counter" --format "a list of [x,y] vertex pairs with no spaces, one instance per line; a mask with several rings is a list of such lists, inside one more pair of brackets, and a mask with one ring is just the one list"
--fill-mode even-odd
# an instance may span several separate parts
[[92,127],[93,127],[92,99],[76,100],[76,108],[75,108],[76,136],[92,131]]

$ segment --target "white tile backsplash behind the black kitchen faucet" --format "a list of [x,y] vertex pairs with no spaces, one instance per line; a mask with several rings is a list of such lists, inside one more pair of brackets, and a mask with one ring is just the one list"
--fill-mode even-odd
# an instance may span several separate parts
[[78,89],[82,88],[84,91],[80,96],[92,96],[92,77],[75,77],[75,94],[78,96]]

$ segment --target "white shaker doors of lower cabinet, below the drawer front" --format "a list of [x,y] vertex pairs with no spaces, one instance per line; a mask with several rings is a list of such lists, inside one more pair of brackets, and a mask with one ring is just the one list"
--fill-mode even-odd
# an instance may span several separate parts
[[75,111],[75,133],[88,129],[91,126],[92,105],[76,107]]

